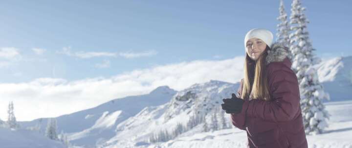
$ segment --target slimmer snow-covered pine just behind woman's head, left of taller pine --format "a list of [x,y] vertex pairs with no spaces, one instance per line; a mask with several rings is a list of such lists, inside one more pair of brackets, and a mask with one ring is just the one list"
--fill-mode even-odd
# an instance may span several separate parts
[[[277,42],[285,45],[286,47],[289,46],[289,38],[288,38],[288,34],[289,34],[289,25],[288,25],[288,21],[287,21],[287,13],[285,11],[285,6],[284,6],[284,1],[280,0],[280,7],[279,7],[279,13],[280,16],[278,18],[276,18],[277,20],[280,21],[280,23],[277,25]],[[289,55],[289,58],[291,59],[291,55]]]

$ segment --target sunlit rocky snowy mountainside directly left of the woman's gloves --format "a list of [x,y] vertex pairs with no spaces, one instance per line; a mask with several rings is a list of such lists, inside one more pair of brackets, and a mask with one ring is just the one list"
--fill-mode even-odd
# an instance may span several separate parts
[[[153,133],[160,130],[173,132],[177,123],[186,125],[193,113],[205,116],[210,123],[211,115],[220,111],[222,98],[228,98],[236,92],[239,84],[211,80],[203,84],[195,84],[190,88],[177,92],[172,100],[157,107],[147,107],[136,116],[122,122],[116,128],[116,136],[103,147],[128,148],[143,146]],[[229,118],[225,118],[230,123]],[[202,124],[181,135],[193,135],[202,132]],[[148,128],[146,128],[148,127]]]

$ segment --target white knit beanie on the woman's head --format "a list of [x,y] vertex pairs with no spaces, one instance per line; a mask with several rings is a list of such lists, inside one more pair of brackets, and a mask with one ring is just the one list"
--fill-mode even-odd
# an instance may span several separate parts
[[251,39],[253,37],[257,37],[259,39],[262,39],[266,43],[266,45],[268,45],[269,47],[271,46],[271,42],[274,38],[273,34],[269,30],[262,29],[262,28],[254,28],[254,29],[248,31],[248,33],[244,37],[244,49],[246,47],[245,45],[246,45],[246,42],[248,41],[248,39]]

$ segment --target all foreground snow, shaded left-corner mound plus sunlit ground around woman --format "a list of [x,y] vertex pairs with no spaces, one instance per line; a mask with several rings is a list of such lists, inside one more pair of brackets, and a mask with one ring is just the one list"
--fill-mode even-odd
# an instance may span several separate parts
[[[307,135],[309,148],[352,148],[352,100],[325,105],[331,115],[329,128],[319,135]],[[245,131],[236,128],[183,135],[165,143],[130,141],[105,148],[246,148],[247,142]],[[65,148],[39,132],[24,129],[0,128],[0,144],[1,148]]]

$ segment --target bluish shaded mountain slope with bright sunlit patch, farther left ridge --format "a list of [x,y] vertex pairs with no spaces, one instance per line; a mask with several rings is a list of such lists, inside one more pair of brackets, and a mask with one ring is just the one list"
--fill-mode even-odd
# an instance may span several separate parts
[[[168,86],[156,88],[149,94],[128,96],[111,100],[95,108],[78,111],[57,117],[58,133],[68,133],[70,143],[94,147],[115,135],[114,129],[120,122],[134,116],[148,106],[158,106],[170,101],[176,91]],[[41,125],[42,132],[46,127],[47,119],[36,119],[30,122],[20,122],[21,127]]]

